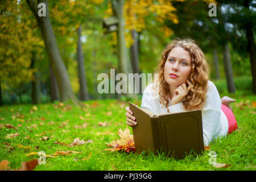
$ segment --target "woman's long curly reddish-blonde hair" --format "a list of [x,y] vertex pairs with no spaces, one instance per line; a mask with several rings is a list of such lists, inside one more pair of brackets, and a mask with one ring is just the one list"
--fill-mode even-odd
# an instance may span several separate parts
[[197,45],[195,40],[186,38],[186,39],[174,39],[169,43],[164,51],[162,52],[162,59],[159,62],[159,66],[156,69],[156,72],[159,73],[159,101],[160,104],[167,107],[169,105],[169,86],[166,80],[164,79],[164,64],[166,63],[168,54],[175,47],[182,47],[189,52],[191,56],[191,75],[188,77],[188,80],[192,83],[192,88],[189,90],[185,100],[183,101],[183,106],[185,110],[196,110],[202,109],[205,105],[207,97],[207,84],[208,84],[208,64],[205,60],[204,53],[201,48]]

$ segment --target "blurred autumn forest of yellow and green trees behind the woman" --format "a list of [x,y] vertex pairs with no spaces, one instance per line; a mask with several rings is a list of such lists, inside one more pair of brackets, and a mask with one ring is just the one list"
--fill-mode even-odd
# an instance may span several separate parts
[[154,73],[176,37],[200,45],[219,92],[255,94],[255,13],[250,0],[1,1],[0,105],[134,97],[98,93],[98,75]]

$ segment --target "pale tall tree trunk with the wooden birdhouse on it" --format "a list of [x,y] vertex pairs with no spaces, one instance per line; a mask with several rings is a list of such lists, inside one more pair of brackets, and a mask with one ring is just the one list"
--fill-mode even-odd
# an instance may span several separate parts
[[[125,34],[123,30],[123,0],[112,1],[112,9],[114,15],[118,18],[118,72],[124,73],[126,75],[126,87],[127,93],[124,93],[125,96],[130,98],[137,97],[136,94],[129,93],[129,88],[132,87],[131,81],[128,81],[129,68],[131,68],[131,64],[128,60],[127,56],[127,48],[125,44]],[[122,80],[125,82],[125,80]]]

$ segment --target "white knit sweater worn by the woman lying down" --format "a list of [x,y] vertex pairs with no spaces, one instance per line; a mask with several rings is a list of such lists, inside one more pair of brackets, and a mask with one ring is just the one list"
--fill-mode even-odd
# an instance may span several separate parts
[[[167,108],[160,104],[158,92],[152,89],[153,84],[146,87],[142,96],[141,107],[154,114],[167,113]],[[168,106],[170,113],[185,111],[182,102]],[[208,81],[208,92],[205,106],[202,109],[204,146],[217,137],[224,137],[228,133],[228,119],[221,110],[221,99],[218,90],[212,81]]]

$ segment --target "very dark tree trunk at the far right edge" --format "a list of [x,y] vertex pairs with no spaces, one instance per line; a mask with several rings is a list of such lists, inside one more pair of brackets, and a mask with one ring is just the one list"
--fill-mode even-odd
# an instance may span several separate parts
[[[249,8],[249,1],[245,0],[243,6]],[[247,38],[247,51],[250,53],[251,75],[253,76],[253,92],[256,94],[256,60],[255,60],[255,42],[253,35],[253,28],[249,20],[245,22],[246,38]]]

